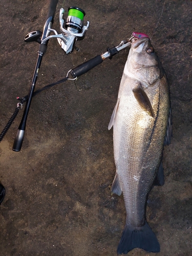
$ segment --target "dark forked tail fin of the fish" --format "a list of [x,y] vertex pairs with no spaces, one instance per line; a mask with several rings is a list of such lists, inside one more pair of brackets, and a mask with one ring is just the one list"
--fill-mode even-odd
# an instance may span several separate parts
[[160,252],[159,242],[147,222],[142,227],[125,225],[117,253],[126,254],[134,248],[141,248],[148,252]]

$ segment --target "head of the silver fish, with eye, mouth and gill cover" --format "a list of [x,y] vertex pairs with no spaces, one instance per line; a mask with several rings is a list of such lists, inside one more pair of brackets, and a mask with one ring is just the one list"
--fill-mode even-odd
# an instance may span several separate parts
[[148,37],[133,39],[124,73],[141,82],[144,88],[153,86],[163,77],[164,70]]

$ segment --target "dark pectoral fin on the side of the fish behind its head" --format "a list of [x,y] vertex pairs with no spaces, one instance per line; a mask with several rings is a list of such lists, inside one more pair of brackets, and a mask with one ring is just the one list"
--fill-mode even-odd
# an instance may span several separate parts
[[155,114],[152,108],[152,104],[141,85],[133,89],[133,93],[141,108],[148,112],[154,118]]

